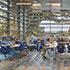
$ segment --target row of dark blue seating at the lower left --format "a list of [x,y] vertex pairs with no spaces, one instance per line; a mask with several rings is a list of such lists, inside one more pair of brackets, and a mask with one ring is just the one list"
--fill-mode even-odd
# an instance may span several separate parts
[[26,42],[21,42],[20,44],[18,44],[18,47],[10,47],[9,44],[2,43],[0,45],[0,57],[3,57],[0,58],[0,60],[5,60],[10,57],[16,57],[16,55],[19,55],[22,51],[24,52],[25,49],[27,49]]

